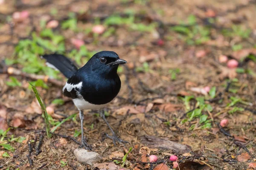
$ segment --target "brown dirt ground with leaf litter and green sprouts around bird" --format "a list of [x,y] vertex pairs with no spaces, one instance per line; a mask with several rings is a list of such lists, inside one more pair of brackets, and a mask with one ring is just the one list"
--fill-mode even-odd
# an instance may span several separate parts
[[[176,170],[256,169],[255,9],[256,0],[0,0],[0,167],[166,170],[175,154]],[[40,55],[58,52],[82,66],[102,50],[128,61],[106,115],[130,144],[113,145],[99,111],[84,111],[87,142],[103,157],[90,166],[73,155],[80,120],[62,95],[67,79]],[[65,119],[51,138],[28,82],[48,107],[51,130]],[[157,162],[148,163],[143,146]]]

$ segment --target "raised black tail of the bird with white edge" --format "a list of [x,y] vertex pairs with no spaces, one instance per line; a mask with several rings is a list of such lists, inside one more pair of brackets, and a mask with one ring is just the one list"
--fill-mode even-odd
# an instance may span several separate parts
[[70,59],[61,54],[47,54],[41,56],[41,58],[46,59],[46,64],[50,68],[60,71],[67,78],[73,76],[78,70],[76,65],[70,61]]

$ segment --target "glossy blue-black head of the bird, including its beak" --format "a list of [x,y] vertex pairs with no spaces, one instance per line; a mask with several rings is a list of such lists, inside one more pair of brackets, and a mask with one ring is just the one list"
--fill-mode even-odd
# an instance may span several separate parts
[[125,63],[127,62],[124,59],[119,59],[114,51],[100,51],[87,62],[87,64],[90,64],[92,71],[105,74],[116,72],[118,65]]

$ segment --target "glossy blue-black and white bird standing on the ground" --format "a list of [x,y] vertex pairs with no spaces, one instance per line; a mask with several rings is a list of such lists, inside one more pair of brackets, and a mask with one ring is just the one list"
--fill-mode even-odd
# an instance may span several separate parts
[[46,60],[46,65],[60,71],[68,78],[62,91],[64,96],[70,97],[79,110],[81,120],[81,146],[92,150],[91,145],[84,139],[84,113],[83,110],[100,109],[100,116],[111,130],[112,136],[105,135],[113,140],[113,144],[128,143],[119,139],[105,118],[105,108],[119,93],[121,80],[117,74],[119,65],[126,64],[114,51],[100,51],[91,57],[81,68],[61,54],[45,54],[41,58]]

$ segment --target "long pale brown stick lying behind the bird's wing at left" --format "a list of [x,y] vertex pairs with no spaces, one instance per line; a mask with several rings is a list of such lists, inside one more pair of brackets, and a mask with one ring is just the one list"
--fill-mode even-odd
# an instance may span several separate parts
[[65,85],[64,82],[56,80],[56,79],[51,79],[48,76],[24,73],[24,72],[18,70],[17,68],[13,68],[13,67],[6,67],[6,68],[3,68],[3,70],[0,69],[0,73],[27,77],[27,78],[33,79],[33,80],[42,79],[42,80],[44,80],[44,82],[49,82],[49,83],[52,83],[53,85],[57,85],[57,86]]

